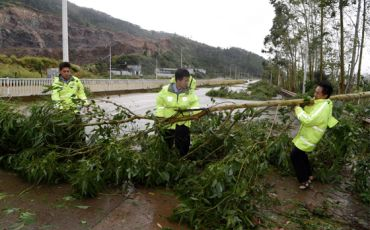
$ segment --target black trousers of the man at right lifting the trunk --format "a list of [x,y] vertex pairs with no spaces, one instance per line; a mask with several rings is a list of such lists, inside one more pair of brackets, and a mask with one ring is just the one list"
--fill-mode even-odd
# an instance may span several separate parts
[[290,153],[290,159],[292,159],[294,171],[299,183],[308,181],[308,177],[312,176],[312,170],[307,154],[294,146]]

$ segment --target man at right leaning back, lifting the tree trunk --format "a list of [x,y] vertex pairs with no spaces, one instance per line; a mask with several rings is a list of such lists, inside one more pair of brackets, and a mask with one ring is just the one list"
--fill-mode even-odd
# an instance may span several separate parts
[[320,82],[315,89],[314,104],[302,109],[294,108],[301,122],[298,134],[293,139],[294,148],[290,154],[300,189],[306,189],[313,180],[311,166],[306,152],[312,152],[323,137],[326,128],[332,128],[338,121],[332,116],[333,102],[329,99],[333,88],[329,82]]

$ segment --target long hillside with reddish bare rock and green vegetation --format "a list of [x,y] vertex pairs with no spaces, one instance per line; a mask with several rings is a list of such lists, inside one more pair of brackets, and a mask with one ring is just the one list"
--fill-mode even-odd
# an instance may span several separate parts
[[[68,4],[70,60],[92,72],[107,75],[111,46],[113,67],[119,68],[122,62],[141,64],[144,75],[154,73],[156,59],[158,67],[180,67],[181,50],[184,66],[206,69],[211,77],[262,73],[264,59],[243,49],[222,49],[176,34],[144,30],[105,13]],[[61,12],[58,0],[1,1],[0,53],[59,60]]]

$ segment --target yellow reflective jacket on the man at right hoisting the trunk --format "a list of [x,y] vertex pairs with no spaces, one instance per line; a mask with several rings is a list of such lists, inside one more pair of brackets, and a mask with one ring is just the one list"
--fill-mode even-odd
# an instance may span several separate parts
[[332,116],[333,102],[329,99],[315,100],[313,105],[302,109],[295,107],[295,114],[301,122],[294,145],[304,152],[311,152],[324,135],[326,128],[334,127],[338,121]]

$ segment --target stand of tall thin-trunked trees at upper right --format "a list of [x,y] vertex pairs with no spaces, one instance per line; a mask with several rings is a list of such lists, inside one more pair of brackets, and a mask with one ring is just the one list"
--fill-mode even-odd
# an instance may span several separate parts
[[[362,1],[361,7],[364,5]],[[368,5],[369,0],[365,1]],[[285,85],[283,87],[293,89],[303,83],[302,73],[305,66],[303,59],[308,54],[306,63],[308,63],[310,78],[317,70],[320,70],[320,73],[329,71],[329,77],[338,82],[339,92],[344,93],[348,82],[347,76],[354,77],[355,71],[352,68],[357,65],[362,55],[361,47],[366,40],[363,33],[361,46],[358,45],[359,35],[357,34],[361,31],[361,23],[348,23],[352,18],[356,16],[358,18],[359,13],[362,12],[362,10],[359,12],[358,2],[355,0],[270,0],[270,3],[274,6],[276,15],[270,34],[266,36],[265,48],[273,56],[272,63],[280,67],[281,82]],[[368,7],[366,9],[369,10]],[[363,17],[363,21],[366,21],[366,16]],[[367,20],[366,23],[369,21]],[[362,29],[363,27],[362,25]],[[366,27],[369,27],[369,24],[366,24]],[[354,54],[353,51],[355,51]],[[273,72],[276,74],[273,77],[277,78],[278,73]],[[322,78],[320,74],[318,77]]]

